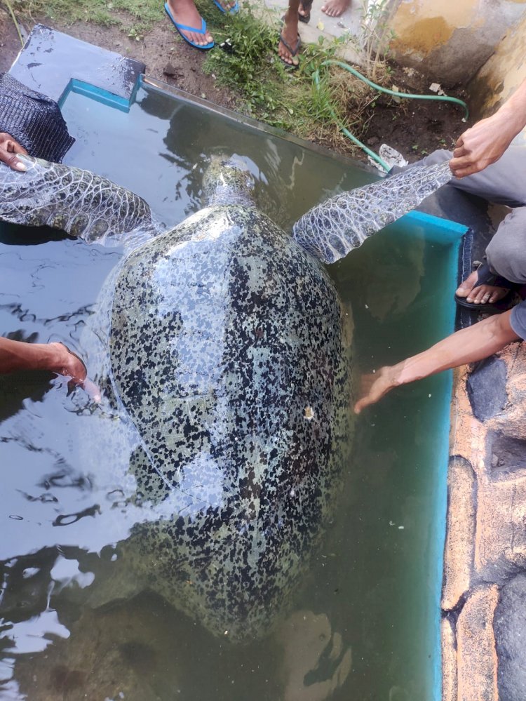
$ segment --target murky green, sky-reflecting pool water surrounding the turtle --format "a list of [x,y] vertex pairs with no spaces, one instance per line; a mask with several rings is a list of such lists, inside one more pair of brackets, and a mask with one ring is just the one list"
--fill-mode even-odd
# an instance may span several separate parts
[[[372,180],[154,88],[130,114],[79,95],[63,111],[77,138],[66,161],[135,190],[167,225],[199,208],[213,152],[251,159],[259,204],[285,228],[338,188]],[[451,330],[457,251],[440,235],[399,223],[332,268],[363,370]],[[81,352],[121,252],[16,227],[0,240],[1,333]],[[123,507],[97,412],[60,378],[0,378],[0,698],[438,699],[449,381],[405,387],[363,413],[334,521],[292,610],[240,648],[149,592],[122,589],[121,601],[92,608],[137,516]]]

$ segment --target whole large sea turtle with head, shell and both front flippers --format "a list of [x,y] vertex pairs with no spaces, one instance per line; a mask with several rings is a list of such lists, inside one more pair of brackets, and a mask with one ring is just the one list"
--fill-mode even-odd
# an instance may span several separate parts
[[168,232],[108,180],[24,160],[25,173],[0,168],[0,218],[126,246],[100,314],[104,359],[94,368],[88,354],[88,367],[108,376],[135,436],[142,521],[122,551],[135,579],[215,634],[260,636],[297,587],[348,460],[351,316],[321,261],[449,171],[338,195],[290,236],[257,210],[252,176],[231,159],[212,161],[206,206]]

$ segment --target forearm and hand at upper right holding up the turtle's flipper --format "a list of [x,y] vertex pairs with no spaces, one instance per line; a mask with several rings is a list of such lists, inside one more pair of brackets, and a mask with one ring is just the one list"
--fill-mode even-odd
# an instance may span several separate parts
[[526,79],[495,114],[480,119],[459,136],[450,160],[453,175],[464,178],[498,161],[525,126]]

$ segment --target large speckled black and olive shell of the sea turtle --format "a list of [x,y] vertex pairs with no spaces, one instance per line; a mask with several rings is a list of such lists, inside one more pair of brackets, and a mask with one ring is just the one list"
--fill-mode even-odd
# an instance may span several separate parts
[[205,208],[123,261],[112,382],[139,498],[173,514],[134,527],[135,566],[215,634],[269,629],[332,514],[350,324],[318,260],[251,206]]

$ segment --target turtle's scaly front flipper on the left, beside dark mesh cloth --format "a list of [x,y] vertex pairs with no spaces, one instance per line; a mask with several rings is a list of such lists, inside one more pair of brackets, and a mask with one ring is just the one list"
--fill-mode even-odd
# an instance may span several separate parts
[[137,229],[156,230],[147,203],[114,182],[62,163],[18,158],[26,171],[0,163],[0,220],[48,225],[88,243],[119,240]]

